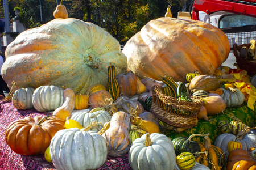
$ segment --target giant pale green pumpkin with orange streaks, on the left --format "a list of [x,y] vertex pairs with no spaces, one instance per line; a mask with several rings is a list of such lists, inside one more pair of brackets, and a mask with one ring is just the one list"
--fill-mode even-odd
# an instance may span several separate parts
[[127,68],[119,42],[93,23],[54,19],[20,33],[6,48],[3,79],[11,87],[55,85],[82,94],[89,86],[108,82],[108,66],[116,74]]

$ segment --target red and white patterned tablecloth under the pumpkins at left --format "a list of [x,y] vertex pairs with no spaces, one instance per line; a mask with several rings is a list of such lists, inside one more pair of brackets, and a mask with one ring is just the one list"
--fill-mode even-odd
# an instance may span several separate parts
[[[0,96],[0,99],[3,96]],[[49,163],[44,159],[44,155],[38,156],[23,156],[13,152],[5,142],[5,130],[7,126],[20,118],[26,116],[46,116],[49,112],[38,112],[35,109],[17,110],[11,102],[0,102],[0,169],[55,169],[52,163]],[[131,169],[128,162],[128,155],[121,158],[111,158],[108,156],[105,164],[98,169]]]

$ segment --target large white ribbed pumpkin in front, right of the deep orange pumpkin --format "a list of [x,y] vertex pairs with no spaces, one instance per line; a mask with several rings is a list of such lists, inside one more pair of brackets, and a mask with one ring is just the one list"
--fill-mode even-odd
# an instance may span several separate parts
[[50,144],[51,159],[58,170],[100,168],[107,158],[107,143],[95,131],[78,128],[58,131]]

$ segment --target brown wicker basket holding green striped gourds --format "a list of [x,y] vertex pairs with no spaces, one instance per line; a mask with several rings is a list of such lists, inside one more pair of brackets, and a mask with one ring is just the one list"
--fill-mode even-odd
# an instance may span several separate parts
[[192,128],[196,125],[197,115],[204,101],[199,97],[191,97],[193,102],[179,101],[166,96],[159,86],[152,87],[151,113],[168,125],[178,128]]

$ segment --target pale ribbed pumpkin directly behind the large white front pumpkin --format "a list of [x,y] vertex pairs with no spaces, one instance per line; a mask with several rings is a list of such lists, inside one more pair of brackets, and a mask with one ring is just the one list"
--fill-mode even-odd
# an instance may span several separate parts
[[[108,111],[104,110],[89,113],[81,111],[72,114],[71,119],[79,122],[79,124],[85,128],[90,125],[90,122],[93,121],[101,122],[101,124],[104,125],[106,122],[111,120],[111,116],[109,115]],[[98,128],[93,126],[93,128],[90,130],[98,132],[102,128],[101,124],[98,124]]]

